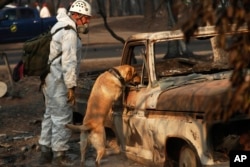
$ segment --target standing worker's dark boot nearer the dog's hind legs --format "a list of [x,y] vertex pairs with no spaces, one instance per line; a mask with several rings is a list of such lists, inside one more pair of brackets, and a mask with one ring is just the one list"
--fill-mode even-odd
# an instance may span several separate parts
[[56,151],[54,153],[54,159],[52,165],[54,166],[73,166],[74,161],[66,155],[64,151]]

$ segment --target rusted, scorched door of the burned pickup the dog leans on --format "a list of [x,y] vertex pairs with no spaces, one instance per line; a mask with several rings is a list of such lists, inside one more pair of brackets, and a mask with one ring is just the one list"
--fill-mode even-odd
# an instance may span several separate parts
[[[116,121],[115,125],[117,128],[122,129],[123,131],[119,131],[118,136],[122,148],[126,150],[126,148],[133,147],[136,148],[136,143],[140,143],[134,140],[134,134],[132,133],[133,129],[133,121],[139,119],[141,121],[146,121],[144,118],[144,114],[141,117],[138,117],[140,113],[138,113],[139,108],[145,106],[145,101],[140,97],[146,97],[144,94],[147,90],[147,85],[149,82],[148,72],[146,68],[146,45],[144,43],[137,43],[128,47],[125,51],[125,59],[122,64],[129,64],[135,67],[137,73],[141,76],[141,82],[137,86],[127,86],[124,92],[124,96],[122,99],[123,102],[123,113],[122,113],[122,120]],[[124,55],[123,55],[124,56]],[[143,58],[144,57],[144,58]],[[142,111],[143,112],[143,111]],[[142,118],[142,119],[141,119]],[[118,118],[117,118],[118,120]],[[121,133],[122,132],[122,133]],[[138,133],[135,138],[136,140],[142,140],[143,136],[139,135]],[[142,144],[142,143],[141,143]]]

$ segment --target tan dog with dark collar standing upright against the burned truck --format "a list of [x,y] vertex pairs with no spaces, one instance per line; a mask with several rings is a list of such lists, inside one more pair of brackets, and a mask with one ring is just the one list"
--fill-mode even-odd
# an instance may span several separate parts
[[90,93],[87,110],[82,125],[67,124],[66,127],[80,131],[81,165],[84,166],[85,151],[88,139],[96,149],[96,166],[105,154],[106,134],[104,121],[113,103],[122,93],[124,84],[139,83],[140,77],[129,65],[117,66],[102,73],[95,81]]

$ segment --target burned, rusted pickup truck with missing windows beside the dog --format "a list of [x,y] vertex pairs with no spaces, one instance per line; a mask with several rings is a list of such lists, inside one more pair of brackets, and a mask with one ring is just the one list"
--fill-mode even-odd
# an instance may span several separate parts
[[[217,35],[208,26],[199,28],[189,44],[180,30],[128,38],[121,64],[134,66],[141,83],[126,87],[106,122],[128,158],[147,166],[229,166],[230,151],[244,150],[247,116],[205,119],[208,108],[225,110],[230,91],[232,68],[215,61],[210,43]],[[176,48],[185,52],[176,54],[181,53]]]

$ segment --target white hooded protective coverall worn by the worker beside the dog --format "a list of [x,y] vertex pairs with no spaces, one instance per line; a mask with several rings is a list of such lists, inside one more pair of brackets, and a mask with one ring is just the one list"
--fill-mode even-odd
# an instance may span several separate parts
[[[58,22],[51,29],[52,33],[66,25],[76,29],[75,22],[66,13],[58,14],[57,20]],[[46,110],[39,144],[52,148],[55,152],[69,149],[67,142],[71,131],[65,128],[65,124],[72,122],[73,113],[72,106],[67,103],[67,93],[69,88],[77,85],[81,46],[81,40],[72,29],[58,31],[50,43],[49,61],[60,53],[62,55],[52,62],[50,73],[43,85]]]

